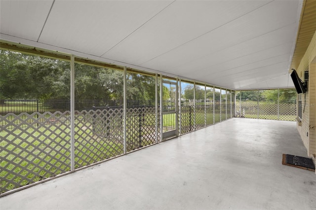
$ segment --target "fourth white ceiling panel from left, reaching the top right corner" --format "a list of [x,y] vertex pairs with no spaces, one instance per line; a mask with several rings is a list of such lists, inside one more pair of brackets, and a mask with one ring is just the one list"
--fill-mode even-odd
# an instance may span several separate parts
[[181,75],[181,69],[176,69],[179,63],[195,61],[201,56],[216,53],[295,23],[297,4],[297,1],[270,2],[141,66]]

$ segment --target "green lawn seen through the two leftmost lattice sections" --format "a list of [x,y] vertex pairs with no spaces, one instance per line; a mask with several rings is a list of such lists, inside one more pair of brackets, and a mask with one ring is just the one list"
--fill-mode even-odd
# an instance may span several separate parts
[[[123,153],[122,142],[95,135],[90,123],[79,124],[75,127],[75,168]],[[0,193],[70,171],[69,126],[38,130],[29,126],[12,133],[3,129],[0,138]]]

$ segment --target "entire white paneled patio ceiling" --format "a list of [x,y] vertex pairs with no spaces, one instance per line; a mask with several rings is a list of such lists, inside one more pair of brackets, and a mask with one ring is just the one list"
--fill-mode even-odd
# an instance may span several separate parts
[[1,0],[0,38],[230,89],[294,87],[301,0]]

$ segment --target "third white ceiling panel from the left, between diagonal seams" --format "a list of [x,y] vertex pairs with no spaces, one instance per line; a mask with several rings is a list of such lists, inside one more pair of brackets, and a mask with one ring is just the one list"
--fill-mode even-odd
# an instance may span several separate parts
[[267,3],[176,1],[103,57],[139,65]]

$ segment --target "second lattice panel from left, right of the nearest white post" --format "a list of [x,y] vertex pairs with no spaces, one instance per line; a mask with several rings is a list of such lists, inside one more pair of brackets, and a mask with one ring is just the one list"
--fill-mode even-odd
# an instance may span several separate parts
[[124,152],[123,109],[76,112],[75,168]]

